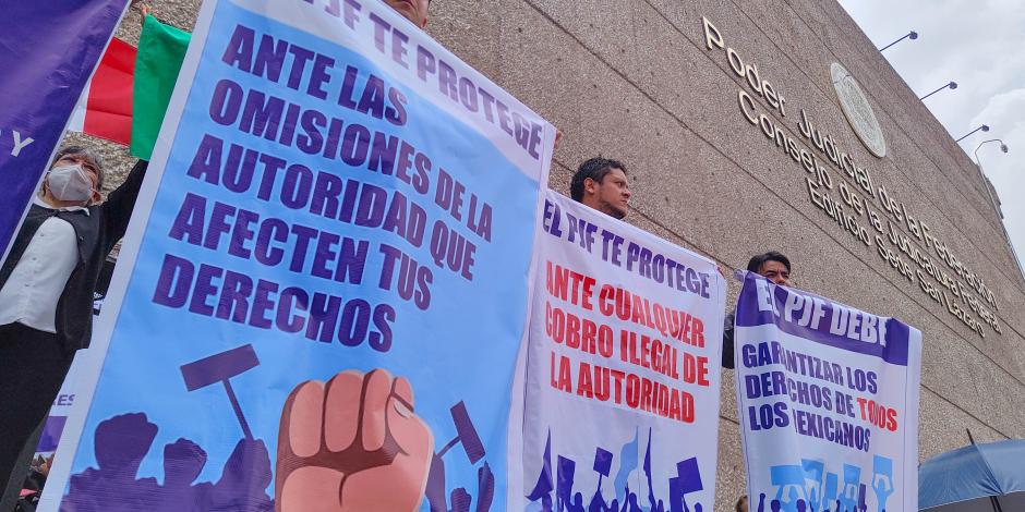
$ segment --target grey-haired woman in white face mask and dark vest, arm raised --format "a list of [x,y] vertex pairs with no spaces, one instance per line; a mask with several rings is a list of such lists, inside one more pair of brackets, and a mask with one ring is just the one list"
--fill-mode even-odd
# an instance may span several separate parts
[[104,162],[58,151],[0,267],[0,483],[49,411],[75,351],[89,344],[93,291],[128,228],[147,162],[100,203]]

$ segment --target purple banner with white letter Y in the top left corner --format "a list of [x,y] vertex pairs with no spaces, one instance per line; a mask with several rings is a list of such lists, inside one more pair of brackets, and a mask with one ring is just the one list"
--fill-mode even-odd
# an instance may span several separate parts
[[8,245],[128,0],[4,2],[0,252]]

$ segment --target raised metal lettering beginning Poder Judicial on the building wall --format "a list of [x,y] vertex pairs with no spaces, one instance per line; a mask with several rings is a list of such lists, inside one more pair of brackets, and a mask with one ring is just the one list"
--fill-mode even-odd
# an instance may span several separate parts
[[[734,74],[744,78],[750,89],[737,90],[741,115],[804,168],[808,199],[851,236],[866,247],[875,247],[877,256],[894,272],[916,285],[922,294],[979,337],[986,337],[984,325],[1002,334],[996,313],[988,308],[991,306],[999,310],[997,296],[982,278],[966,267],[945,243],[932,234],[926,222],[908,211],[904,203],[885,186],[877,184],[871,174],[836,144],[832,134],[818,129],[804,109],[799,109],[800,119],[794,136],[769,113],[760,111],[761,103],[756,101],[756,97],[764,100],[771,111],[785,118],[786,99],[775,86],[758,74],[757,65],[745,63],[736,50],[725,45],[715,25],[707,17],[701,20],[706,48],[722,50]],[[864,121],[867,118],[863,115],[859,119]],[[875,114],[871,121],[876,121]],[[852,121],[852,126],[854,124]],[[872,138],[871,130],[867,129],[867,137]],[[858,136],[861,137],[861,134]],[[803,137],[803,141],[797,137]],[[878,142],[881,143],[882,155],[885,155],[881,132]],[[869,141],[865,143],[866,146],[871,144]],[[809,150],[808,147],[813,149]],[[871,147],[869,149],[872,150]],[[825,161],[839,169],[844,179],[834,181]]]

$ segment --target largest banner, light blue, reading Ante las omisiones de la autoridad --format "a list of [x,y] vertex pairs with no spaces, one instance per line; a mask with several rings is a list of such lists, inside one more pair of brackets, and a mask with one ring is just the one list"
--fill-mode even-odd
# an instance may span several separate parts
[[43,510],[502,510],[554,136],[381,1],[204,2]]

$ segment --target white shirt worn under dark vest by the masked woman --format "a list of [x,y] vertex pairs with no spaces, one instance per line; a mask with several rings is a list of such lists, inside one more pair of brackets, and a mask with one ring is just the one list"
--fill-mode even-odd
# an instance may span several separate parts
[[[51,210],[89,214],[81,206],[53,208],[38,195],[33,203]],[[79,243],[71,223],[57,217],[43,221],[0,289],[0,326],[16,321],[36,330],[57,333],[57,302],[77,261]]]

